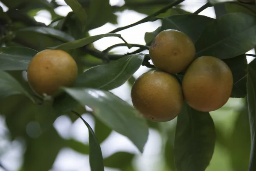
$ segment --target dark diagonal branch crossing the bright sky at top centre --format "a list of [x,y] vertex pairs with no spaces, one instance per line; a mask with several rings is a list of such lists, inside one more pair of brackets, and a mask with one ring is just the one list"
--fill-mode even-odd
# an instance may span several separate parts
[[172,3],[170,3],[169,5],[163,7],[162,9],[158,10],[154,14],[148,15],[147,17],[143,18],[142,20],[137,21],[136,23],[133,23],[133,24],[130,24],[130,25],[124,26],[124,27],[119,27],[117,29],[112,30],[109,33],[116,33],[116,32],[122,31],[124,29],[128,29],[130,27],[136,26],[136,25],[141,24],[141,23],[145,23],[145,22],[148,22],[148,21],[155,21],[155,20],[157,20],[156,18],[154,18],[155,16],[157,16],[159,14],[162,14],[163,12],[166,12],[168,9],[172,8],[173,6],[177,6],[178,4],[182,3],[183,1],[184,0],[176,0]]

